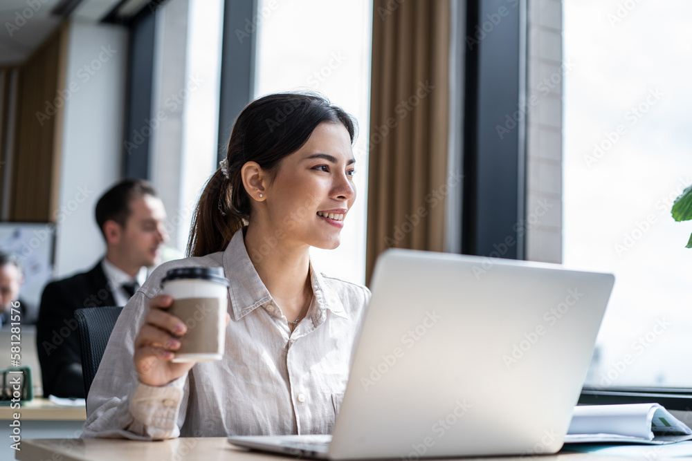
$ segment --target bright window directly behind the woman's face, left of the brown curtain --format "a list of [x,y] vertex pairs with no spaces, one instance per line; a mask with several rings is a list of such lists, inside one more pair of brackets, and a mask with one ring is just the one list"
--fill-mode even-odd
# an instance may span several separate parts
[[[255,97],[318,91],[358,120],[358,196],[336,250],[312,249],[334,276],[365,283],[365,208],[372,1],[260,0]],[[338,262],[337,262],[338,261]]]

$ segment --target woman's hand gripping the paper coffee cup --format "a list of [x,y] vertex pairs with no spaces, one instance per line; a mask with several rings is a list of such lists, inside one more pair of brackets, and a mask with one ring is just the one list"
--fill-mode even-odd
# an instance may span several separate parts
[[139,381],[149,386],[165,386],[185,375],[195,362],[174,363],[174,351],[188,328],[178,317],[166,312],[173,298],[160,294],[149,301],[144,325],[134,340],[134,368]]

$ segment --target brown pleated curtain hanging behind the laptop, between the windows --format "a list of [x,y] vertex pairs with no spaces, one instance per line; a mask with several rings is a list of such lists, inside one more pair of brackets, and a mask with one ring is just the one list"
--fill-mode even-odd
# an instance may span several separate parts
[[[388,247],[444,250],[450,3],[374,0],[366,279]],[[452,185],[453,186],[453,185]]]

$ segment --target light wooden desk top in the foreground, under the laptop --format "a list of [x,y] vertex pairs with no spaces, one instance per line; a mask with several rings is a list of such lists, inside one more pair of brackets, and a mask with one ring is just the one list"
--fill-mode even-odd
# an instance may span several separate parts
[[[595,458],[594,458],[595,457]],[[239,449],[226,441],[225,437],[178,438],[162,442],[140,442],[121,439],[28,439],[21,441],[21,451],[15,453],[15,459],[21,461],[53,460],[64,461],[121,461],[121,460],[178,460],[178,461],[277,461],[280,459],[298,459],[290,457],[277,458],[268,455]],[[507,460],[527,461],[524,456],[505,458],[464,458],[464,461],[482,459],[485,461]],[[608,460],[605,456],[582,453],[558,453],[551,456],[533,458],[534,461],[597,461]],[[622,461],[623,458],[619,458]]]

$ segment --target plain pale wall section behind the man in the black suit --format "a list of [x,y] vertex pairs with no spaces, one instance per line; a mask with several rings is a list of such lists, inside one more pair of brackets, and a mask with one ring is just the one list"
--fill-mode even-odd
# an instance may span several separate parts
[[105,245],[96,200],[120,178],[127,30],[71,21],[65,73],[56,277],[93,265]]

